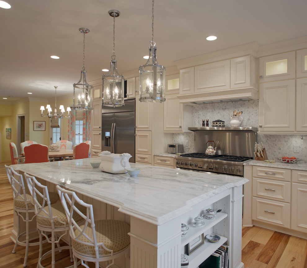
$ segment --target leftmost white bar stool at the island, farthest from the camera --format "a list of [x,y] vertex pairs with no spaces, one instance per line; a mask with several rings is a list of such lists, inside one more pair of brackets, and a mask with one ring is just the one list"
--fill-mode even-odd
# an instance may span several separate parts
[[[39,244],[39,242],[29,242],[29,234],[32,232],[37,232],[36,229],[29,230],[29,222],[33,221],[34,217],[36,216],[33,199],[32,196],[27,194],[25,191],[22,175],[18,174],[12,167],[8,167],[7,165],[4,165],[4,167],[7,172],[7,178],[9,179],[13,191],[14,213],[16,212],[17,215],[17,237],[12,253],[16,252],[17,245],[25,246],[26,250],[24,255],[23,267],[26,267],[29,246],[37,246]],[[14,175],[16,178],[14,177]],[[56,202],[58,200],[58,196],[55,193],[51,193],[50,200],[52,202]],[[34,213],[31,219],[29,219],[29,213]],[[26,231],[23,233],[20,233],[20,218],[26,223]],[[20,238],[24,235],[26,240],[25,242],[21,242]]]

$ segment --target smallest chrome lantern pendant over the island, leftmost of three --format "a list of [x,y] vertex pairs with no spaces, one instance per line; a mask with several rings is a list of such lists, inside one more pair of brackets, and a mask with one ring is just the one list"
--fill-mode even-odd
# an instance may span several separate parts
[[84,49],[85,49],[85,34],[90,30],[80,28],[79,31],[83,34],[83,67],[80,80],[73,84],[73,109],[76,110],[92,110],[93,109],[93,86],[86,81],[86,71],[84,67]]

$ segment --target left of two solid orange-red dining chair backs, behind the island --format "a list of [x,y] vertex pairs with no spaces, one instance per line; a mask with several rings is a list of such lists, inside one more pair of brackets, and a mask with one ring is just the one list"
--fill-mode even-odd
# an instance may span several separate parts
[[43,144],[24,147],[25,164],[49,162],[49,148]]

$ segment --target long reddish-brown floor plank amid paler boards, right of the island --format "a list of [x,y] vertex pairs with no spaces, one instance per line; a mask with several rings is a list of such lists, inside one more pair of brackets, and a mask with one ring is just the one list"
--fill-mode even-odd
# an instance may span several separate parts
[[256,260],[268,264],[284,236],[284,233],[274,232],[257,256]]

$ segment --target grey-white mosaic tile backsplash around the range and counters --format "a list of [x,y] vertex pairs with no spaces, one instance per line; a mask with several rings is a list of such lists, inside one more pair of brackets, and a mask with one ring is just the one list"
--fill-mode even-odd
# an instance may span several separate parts
[[[192,118],[190,127],[202,127],[202,119],[209,119],[209,126],[212,121],[217,119],[225,121],[225,126],[230,127],[230,111],[242,111],[241,127],[259,127],[259,102],[258,100],[235,101],[224,103],[199,104],[192,108]],[[227,113],[228,112],[228,113]],[[258,134],[257,142],[262,142],[265,146],[269,159],[276,159],[282,156],[295,156],[296,158],[307,160],[307,135],[265,135]],[[172,136],[173,143],[185,144],[185,153],[194,152],[194,132],[191,133],[174,133]],[[293,146],[299,145],[300,152],[294,153]]]

